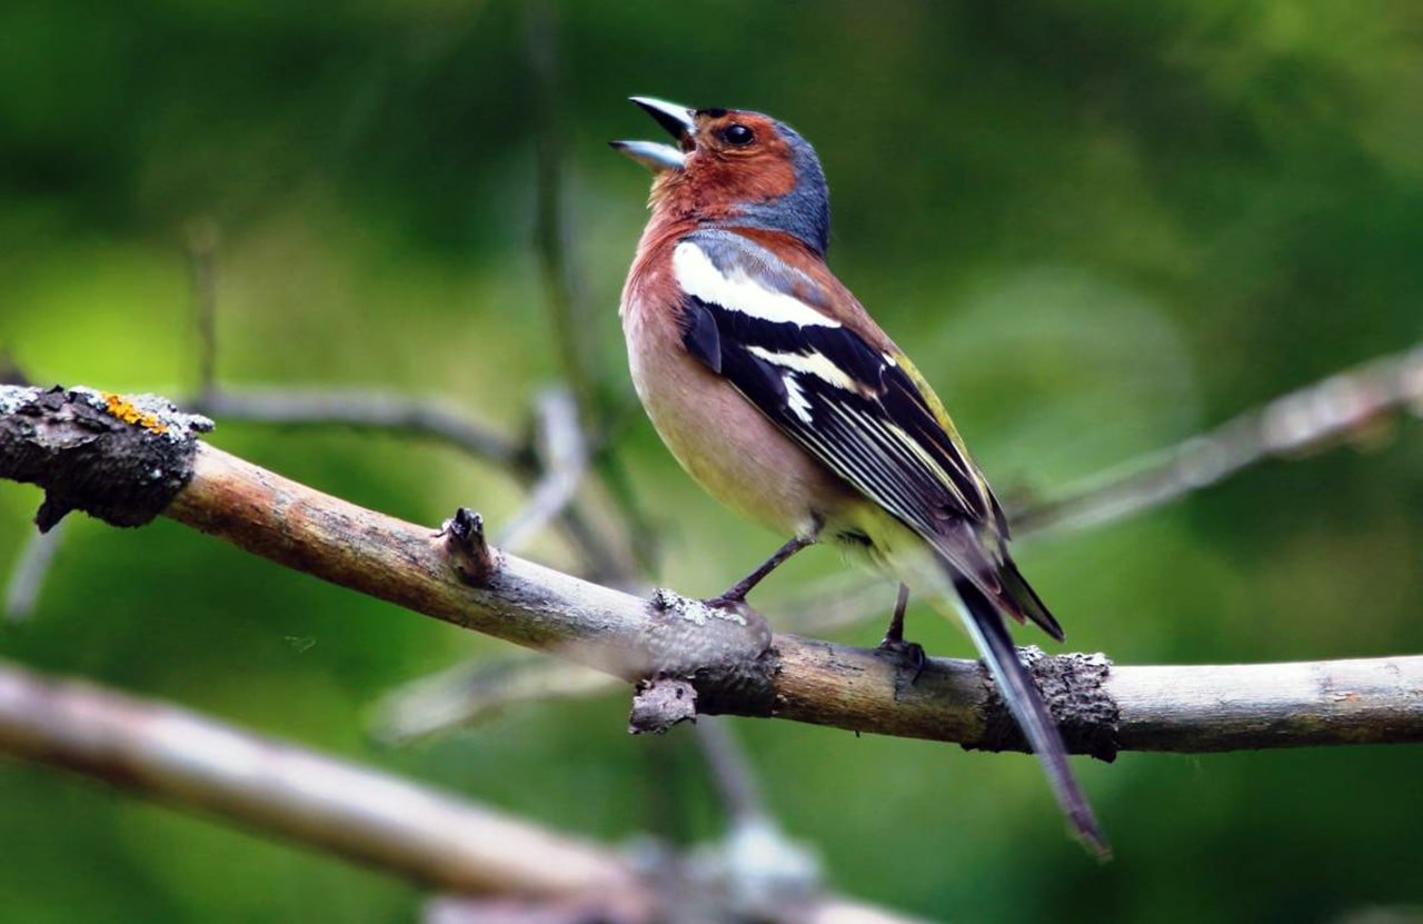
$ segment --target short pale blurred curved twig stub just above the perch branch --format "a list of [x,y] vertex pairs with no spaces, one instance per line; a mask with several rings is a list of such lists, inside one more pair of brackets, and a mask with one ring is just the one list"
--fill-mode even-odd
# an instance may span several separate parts
[[529,491],[524,510],[504,530],[499,545],[519,551],[539,530],[562,514],[588,471],[588,446],[578,421],[578,404],[562,389],[546,389],[536,401],[535,440],[542,474]]

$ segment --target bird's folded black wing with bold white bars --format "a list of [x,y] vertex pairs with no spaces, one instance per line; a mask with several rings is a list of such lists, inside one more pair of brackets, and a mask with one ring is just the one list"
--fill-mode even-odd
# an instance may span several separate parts
[[756,242],[699,231],[673,252],[683,345],[857,490],[998,595],[986,481],[901,356],[825,313],[831,298]]

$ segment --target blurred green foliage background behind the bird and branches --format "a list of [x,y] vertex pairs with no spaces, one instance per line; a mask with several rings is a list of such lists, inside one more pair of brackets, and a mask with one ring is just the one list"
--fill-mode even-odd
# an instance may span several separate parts
[[[127,7],[127,9],[125,9]],[[655,137],[625,103],[744,105],[820,149],[831,262],[953,407],[1000,491],[1050,491],[1423,333],[1423,9],[1406,0],[565,3],[573,278],[605,393]],[[38,382],[191,393],[184,241],[221,229],[223,384],[437,393],[511,431],[559,376],[535,228],[538,80],[509,3],[0,7],[0,347]],[[1123,663],[1423,651],[1423,436],[1254,468],[1025,542],[1077,649]],[[222,424],[218,446],[391,514],[495,524],[512,481],[414,440]],[[723,589],[780,537],[736,521],[640,416],[619,457],[659,581]],[[0,565],[38,501],[0,484]],[[0,653],[622,839],[717,833],[687,735],[626,696],[410,750],[390,688],[508,646],[169,523],[70,535]],[[532,557],[568,564],[556,540]],[[813,551],[760,592],[840,568]],[[892,591],[887,589],[887,609]],[[968,655],[928,612],[912,632]],[[878,639],[879,621],[844,634]],[[1023,641],[1042,642],[1042,638]],[[1423,752],[1080,763],[1117,860],[1063,834],[1022,756],[739,722],[771,804],[844,891],[970,921],[1336,921],[1423,905]],[[421,894],[203,819],[0,763],[0,920],[406,921]]]

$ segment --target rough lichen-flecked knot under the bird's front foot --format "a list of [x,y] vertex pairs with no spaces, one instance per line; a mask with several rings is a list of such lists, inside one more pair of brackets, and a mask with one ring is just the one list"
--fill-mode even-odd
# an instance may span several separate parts
[[653,679],[639,685],[632,732],[665,732],[699,712],[771,715],[777,661],[771,626],[760,614],[746,604],[710,607],[663,588],[650,609],[645,675]]

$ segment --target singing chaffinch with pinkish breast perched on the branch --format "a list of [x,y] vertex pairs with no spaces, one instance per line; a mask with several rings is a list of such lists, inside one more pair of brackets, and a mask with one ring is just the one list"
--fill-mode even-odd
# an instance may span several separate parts
[[707,493],[788,540],[724,607],[815,542],[959,618],[1042,763],[1070,827],[1107,840],[1006,618],[1062,641],[1009,554],[1009,523],[943,403],[830,271],[830,192],[815,149],[750,110],[632,97],[675,144],[612,141],[653,172],[652,212],[623,285],[628,362],[653,427]]

